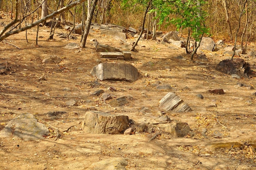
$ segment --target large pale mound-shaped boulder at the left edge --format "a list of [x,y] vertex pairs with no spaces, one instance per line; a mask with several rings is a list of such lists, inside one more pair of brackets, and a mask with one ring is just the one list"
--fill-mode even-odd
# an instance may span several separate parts
[[0,137],[12,137],[24,141],[45,139],[48,134],[48,128],[43,123],[39,123],[30,113],[21,114],[12,119],[0,131]]

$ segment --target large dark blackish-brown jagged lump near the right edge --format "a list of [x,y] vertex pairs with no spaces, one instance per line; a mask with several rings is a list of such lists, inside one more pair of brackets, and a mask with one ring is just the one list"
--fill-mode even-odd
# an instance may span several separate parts
[[233,60],[222,60],[216,66],[216,70],[225,74],[237,74],[238,76],[248,78],[254,76],[255,72],[251,70],[249,63],[246,63],[242,58]]

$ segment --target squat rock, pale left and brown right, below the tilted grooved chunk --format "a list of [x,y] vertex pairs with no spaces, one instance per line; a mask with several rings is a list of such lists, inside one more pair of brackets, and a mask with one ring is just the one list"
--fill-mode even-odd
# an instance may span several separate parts
[[164,131],[173,135],[174,137],[184,137],[189,132],[191,132],[191,129],[189,127],[188,123],[185,122],[171,122],[165,125]]

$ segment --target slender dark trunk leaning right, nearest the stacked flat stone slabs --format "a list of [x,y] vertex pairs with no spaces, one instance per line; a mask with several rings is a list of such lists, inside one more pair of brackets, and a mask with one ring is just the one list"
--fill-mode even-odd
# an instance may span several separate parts
[[[89,4],[89,1],[90,0],[88,0],[88,4]],[[85,31],[84,31],[84,34],[83,34],[83,39],[82,39],[82,42],[81,42],[81,46],[83,48],[85,47],[85,42],[86,42],[87,36],[89,34],[89,30],[90,30],[90,26],[91,26],[91,22],[92,22],[92,16],[93,16],[94,9],[96,7],[97,1],[98,0],[93,0],[92,3],[90,3],[91,6],[88,7],[88,10],[90,12],[87,14],[87,23],[86,23],[86,26],[85,26]]]

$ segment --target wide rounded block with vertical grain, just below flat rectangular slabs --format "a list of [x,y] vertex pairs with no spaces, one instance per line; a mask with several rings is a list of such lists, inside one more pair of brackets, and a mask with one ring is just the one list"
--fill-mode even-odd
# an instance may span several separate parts
[[138,79],[138,70],[126,63],[100,63],[90,72],[99,80],[126,80],[134,82]]

